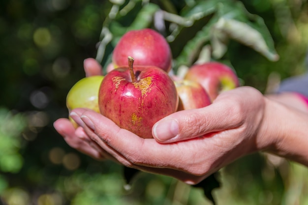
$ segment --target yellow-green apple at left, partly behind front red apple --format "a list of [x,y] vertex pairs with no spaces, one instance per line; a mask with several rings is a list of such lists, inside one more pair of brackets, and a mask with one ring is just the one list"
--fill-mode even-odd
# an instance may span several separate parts
[[[99,113],[98,90],[103,76],[91,76],[79,80],[67,93],[66,107],[68,112],[75,108],[89,108]],[[69,117],[75,127],[77,123]]]

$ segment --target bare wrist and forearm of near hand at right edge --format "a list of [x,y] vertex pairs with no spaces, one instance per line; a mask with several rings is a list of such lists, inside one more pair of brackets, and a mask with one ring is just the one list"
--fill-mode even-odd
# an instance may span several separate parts
[[308,115],[269,98],[265,102],[258,149],[308,166]]

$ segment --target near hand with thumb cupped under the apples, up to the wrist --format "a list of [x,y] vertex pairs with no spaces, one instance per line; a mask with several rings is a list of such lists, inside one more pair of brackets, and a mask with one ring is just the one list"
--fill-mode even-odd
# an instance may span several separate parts
[[259,133],[264,110],[259,91],[236,88],[205,108],[163,118],[153,127],[154,139],[140,138],[89,110],[75,109],[71,117],[123,165],[196,184],[237,158],[265,148],[267,142]]

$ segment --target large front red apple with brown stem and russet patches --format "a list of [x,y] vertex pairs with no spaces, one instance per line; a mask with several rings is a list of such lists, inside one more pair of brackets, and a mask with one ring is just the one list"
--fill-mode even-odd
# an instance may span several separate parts
[[104,77],[98,95],[102,115],[142,138],[152,138],[159,119],[176,112],[178,94],[168,74],[155,66],[116,68]]

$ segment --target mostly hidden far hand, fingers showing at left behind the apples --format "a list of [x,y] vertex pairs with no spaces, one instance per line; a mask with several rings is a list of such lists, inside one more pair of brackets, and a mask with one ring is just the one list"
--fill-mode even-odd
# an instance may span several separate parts
[[[102,67],[101,65],[92,58],[84,60],[84,69],[86,77],[101,75]],[[92,140],[89,139],[87,134],[84,132],[82,127],[75,127],[71,121],[67,118],[60,118],[54,122],[54,127],[66,143],[79,150],[82,153],[85,153],[97,160],[104,159],[104,151],[100,150]]]

